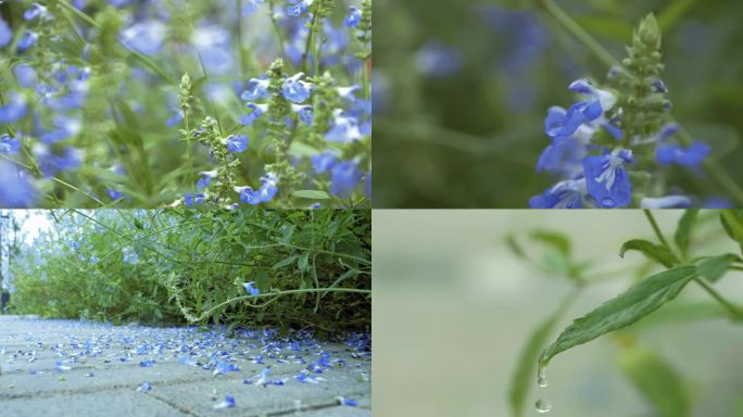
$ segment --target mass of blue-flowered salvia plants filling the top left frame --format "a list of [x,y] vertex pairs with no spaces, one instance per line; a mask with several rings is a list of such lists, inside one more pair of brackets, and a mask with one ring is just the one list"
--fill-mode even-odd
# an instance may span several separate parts
[[370,0],[0,2],[0,206],[368,206]]

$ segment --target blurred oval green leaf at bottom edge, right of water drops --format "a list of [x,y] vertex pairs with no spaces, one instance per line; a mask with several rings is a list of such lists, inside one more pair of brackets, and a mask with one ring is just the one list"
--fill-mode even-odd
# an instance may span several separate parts
[[621,369],[650,401],[658,416],[685,417],[690,404],[681,377],[648,349],[630,349],[621,355]]

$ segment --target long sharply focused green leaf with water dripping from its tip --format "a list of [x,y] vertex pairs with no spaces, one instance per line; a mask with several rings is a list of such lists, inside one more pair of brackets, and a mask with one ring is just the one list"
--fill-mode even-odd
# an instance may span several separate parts
[[696,275],[695,266],[679,266],[653,275],[596,309],[576,319],[542,352],[540,365],[570,348],[629,326],[673,300]]

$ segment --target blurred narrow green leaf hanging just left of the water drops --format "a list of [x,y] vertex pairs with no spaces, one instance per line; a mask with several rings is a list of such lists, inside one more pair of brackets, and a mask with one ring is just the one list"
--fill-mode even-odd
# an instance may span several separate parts
[[529,387],[534,380],[539,351],[544,348],[550,333],[552,333],[557,321],[574,300],[575,292],[569,293],[563,299],[557,309],[532,330],[527,343],[521,349],[521,354],[518,357],[518,364],[511,379],[511,388],[508,390],[508,403],[515,417],[524,415]]

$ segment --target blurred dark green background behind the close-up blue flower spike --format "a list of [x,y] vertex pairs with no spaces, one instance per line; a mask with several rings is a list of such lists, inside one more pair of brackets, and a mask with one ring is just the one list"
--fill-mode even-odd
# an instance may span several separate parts
[[[617,58],[655,12],[672,114],[743,182],[743,2],[556,2]],[[553,184],[536,174],[546,109],[567,108],[572,80],[608,68],[540,3],[375,2],[376,207],[526,207]],[[705,177],[671,174],[701,199],[722,194]]]

